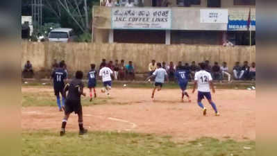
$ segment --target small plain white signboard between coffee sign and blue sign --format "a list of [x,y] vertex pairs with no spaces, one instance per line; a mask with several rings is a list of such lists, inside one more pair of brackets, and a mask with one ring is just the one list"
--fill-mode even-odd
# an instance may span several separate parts
[[201,9],[200,23],[227,24],[228,9]]

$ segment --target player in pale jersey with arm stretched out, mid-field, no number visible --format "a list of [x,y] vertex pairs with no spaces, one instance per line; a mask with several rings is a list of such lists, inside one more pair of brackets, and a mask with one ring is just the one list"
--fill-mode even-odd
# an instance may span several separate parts
[[156,89],[158,88],[158,91],[160,91],[162,89],[162,85],[165,83],[165,78],[167,78],[167,81],[168,81],[167,71],[162,68],[162,64],[160,64],[160,62],[157,63],[157,67],[158,67],[158,69],[156,69],[153,72],[152,76],[149,76],[149,78],[146,78],[146,81],[147,81],[150,78],[156,77],[155,78],[155,87],[153,89],[152,96],[151,96],[152,99],[154,98]]

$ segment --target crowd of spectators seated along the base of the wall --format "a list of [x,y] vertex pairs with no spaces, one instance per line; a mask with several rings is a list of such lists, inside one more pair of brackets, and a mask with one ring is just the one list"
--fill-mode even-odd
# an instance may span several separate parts
[[[61,61],[63,64],[65,64],[65,60]],[[231,81],[231,77],[233,75],[234,80],[255,80],[255,62],[252,62],[251,66],[249,67],[249,62],[244,61],[243,65],[240,65],[240,62],[235,62],[235,66],[233,67],[233,73],[230,72],[227,66],[227,62],[222,62],[221,66],[218,62],[215,62],[212,66],[210,65],[210,62],[208,60],[205,60],[206,64],[206,71],[211,73],[213,80],[228,80],[228,82]],[[124,60],[115,60],[113,62],[110,60],[109,62],[106,62],[106,59],[103,59],[101,64],[99,65],[99,71],[103,67],[109,67],[112,69],[112,71],[115,72],[115,80],[135,80],[135,67],[132,61],[128,61],[128,63],[125,64]],[[52,71],[59,67],[59,64],[57,60],[53,61],[52,64]],[[64,65],[65,71],[67,72],[67,65]],[[196,71],[200,70],[199,64],[196,64],[195,61],[192,61],[191,64],[185,63],[179,61],[178,64],[174,64],[174,62],[162,62],[162,68],[167,71],[167,74],[169,76],[169,80],[174,81],[175,78],[175,72],[178,69],[185,69],[190,72],[190,80],[194,80],[194,74]],[[152,60],[149,65],[149,76],[153,74],[153,72],[157,69],[157,62],[156,60]],[[29,60],[27,60],[26,64],[24,65],[24,69],[22,71],[22,76],[24,76],[26,73],[29,73],[31,75],[34,74],[33,66]]]

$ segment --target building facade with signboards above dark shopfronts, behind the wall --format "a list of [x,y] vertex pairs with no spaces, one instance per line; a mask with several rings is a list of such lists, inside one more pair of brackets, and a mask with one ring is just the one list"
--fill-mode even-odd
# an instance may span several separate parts
[[94,6],[92,42],[255,44],[252,0],[133,0],[134,7],[125,2]]

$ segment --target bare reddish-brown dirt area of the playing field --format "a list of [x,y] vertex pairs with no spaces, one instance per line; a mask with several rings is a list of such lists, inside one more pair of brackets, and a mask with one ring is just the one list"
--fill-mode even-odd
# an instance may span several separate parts
[[[22,92],[53,92],[51,88],[23,87]],[[88,90],[86,89],[87,95]],[[176,139],[215,137],[255,139],[255,91],[218,89],[212,98],[221,116],[212,107],[202,116],[197,94],[188,90],[192,103],[181,103],[179,89],[163,89],[151,101],[151,89],[115,88],[104,105],[83,107],[84,125],[92,130],[143,132],[170,135]],[[100,98],[106,98],[98,89]],[[89,100],[89,97],[85,97]],[[23,130],[60,130],[62,112],[57,107],[22,107]],[[77,116],[72,114],[67,130],[77,131]]]

